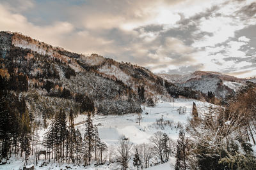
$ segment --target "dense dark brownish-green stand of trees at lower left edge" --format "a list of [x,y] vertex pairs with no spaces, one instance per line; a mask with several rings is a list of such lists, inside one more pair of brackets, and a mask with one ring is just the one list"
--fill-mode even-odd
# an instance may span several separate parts
[[[6,160],[14,153],[25,157],[31,153],[31,139],[36,125],[33,124],[33,115],[28,113],[24,98],[15,93],[1,93],[0,100],[0,160]],[[33,146],[32,146],[33,147]]]

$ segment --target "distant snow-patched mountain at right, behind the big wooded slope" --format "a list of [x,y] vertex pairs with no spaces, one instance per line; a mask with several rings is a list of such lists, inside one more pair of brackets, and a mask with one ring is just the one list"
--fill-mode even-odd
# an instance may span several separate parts
[[219,98],[224,98],[228,94],[234,94],[247,81],[243,78],[236,78],[210,71],[195,71],[194,73],[185,75],[158,75],[179,87],[189,87],[193,90],[199,90],[204,94],[213,92]]

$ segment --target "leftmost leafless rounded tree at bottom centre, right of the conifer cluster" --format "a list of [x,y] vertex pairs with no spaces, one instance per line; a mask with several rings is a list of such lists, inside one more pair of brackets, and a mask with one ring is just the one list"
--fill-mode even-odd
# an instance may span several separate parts
[[117,145],[118,161],[122,166],[122,170],[128,168],[128,162],[131,157],[131,148],[132,144],[130,143],[129,139],[122,136]]

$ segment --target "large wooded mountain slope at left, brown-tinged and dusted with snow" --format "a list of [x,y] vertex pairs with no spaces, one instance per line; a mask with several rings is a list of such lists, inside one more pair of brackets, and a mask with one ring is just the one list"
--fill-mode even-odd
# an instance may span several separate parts
[[144,67],[68,52],[17,32],[0,32],[0,57],[1,95],[45,121],[58,110],[120,115],[139,113],[142,103],[157,99],[198,96]]

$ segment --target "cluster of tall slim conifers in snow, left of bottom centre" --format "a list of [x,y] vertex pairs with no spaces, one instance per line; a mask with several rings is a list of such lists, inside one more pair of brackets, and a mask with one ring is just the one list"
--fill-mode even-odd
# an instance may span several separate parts
[[92,160],[96,164],[104,163],[102,153],[106,152],[107,146],[100,141],[97,126],[92,124],[91,112],[88,112],[84,125],[84,138],[82,138],[81,132],[74,127],[72,110],[68,117],[68,125],[63,111],[56,114],[44,141],[49,162],[72,162],[84,166],[90,165]]

